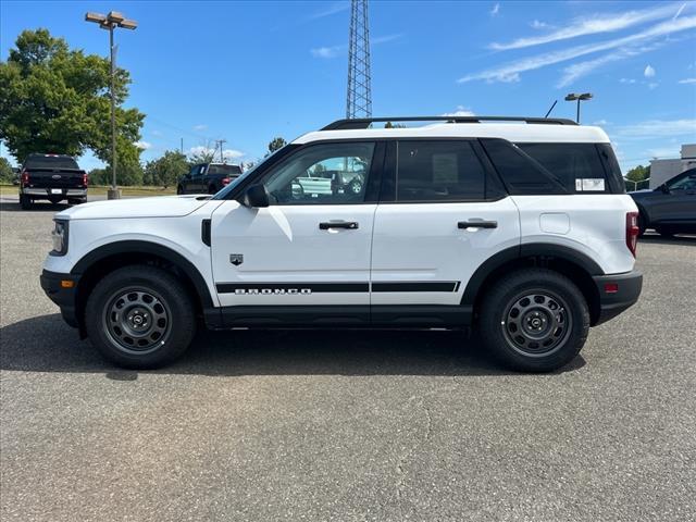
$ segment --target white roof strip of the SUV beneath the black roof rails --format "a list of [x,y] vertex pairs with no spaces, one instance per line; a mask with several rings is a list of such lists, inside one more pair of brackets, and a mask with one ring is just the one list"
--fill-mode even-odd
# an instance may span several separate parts
[[407,128],[358,128],[315,130],[297,138],[294,144],[332,139],[364,138],[502,138],[512,142],[602,142],[609,137],[599,127],[549,125],[546,123],[435,123]]

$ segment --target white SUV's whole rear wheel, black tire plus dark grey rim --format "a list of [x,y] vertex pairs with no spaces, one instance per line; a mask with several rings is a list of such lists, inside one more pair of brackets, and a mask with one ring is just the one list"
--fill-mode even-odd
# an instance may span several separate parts
[[486,348],[506,366],[549,372],[580,353],[589,332],[589,311],[564,275],[524,269],[494,284],[484,297],[478,328]]

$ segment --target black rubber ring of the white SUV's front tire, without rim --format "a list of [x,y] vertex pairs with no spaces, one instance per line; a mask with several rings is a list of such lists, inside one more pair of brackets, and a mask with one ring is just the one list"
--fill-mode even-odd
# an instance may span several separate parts
[[[114,294],[129,286],[153,290],[166,302],[171,313],[166,343],[149,353],[128,353],[119,349],[103,325],[105,308]],[[153,369],[172,362],[190,345],[196,330],[191,308],[186,290],[171,274],[149,266],[127,266],[97,284],[87,301],[85,328],[92,345],[110,361],[124,368]]]

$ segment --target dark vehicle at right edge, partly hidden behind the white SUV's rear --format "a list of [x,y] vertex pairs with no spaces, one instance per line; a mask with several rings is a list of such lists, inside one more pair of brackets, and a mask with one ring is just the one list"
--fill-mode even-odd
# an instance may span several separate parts
[[696,234],[696,169],[682,172],[654,190],[629,195],[638,207],[641,235],[646,228],[668,237]]

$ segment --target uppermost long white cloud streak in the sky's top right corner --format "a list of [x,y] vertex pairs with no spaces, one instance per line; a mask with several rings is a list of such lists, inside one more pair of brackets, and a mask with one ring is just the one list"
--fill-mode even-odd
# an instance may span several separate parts
[[[613,33],[616,30],[626,29],[637,24],[651,22],[655,20],[671,16],[679,9],[681,14],[686,4],[670,3],[658,8],[646,9],[643,11],[629,11],[625,13],[602,13],[595,14],[592,17],[575,18],[570,25],[561,27],[554,33],[543,36],[532,36],[529,38],[519,38],[509,44],[490,44],[490,49],[505,51],[509,49],[520,49],[524,47],[538,46],[552,41],[576,38],[580,36],[595,35],[598,33]],[[676,16],[672,18],[675,21]]]

